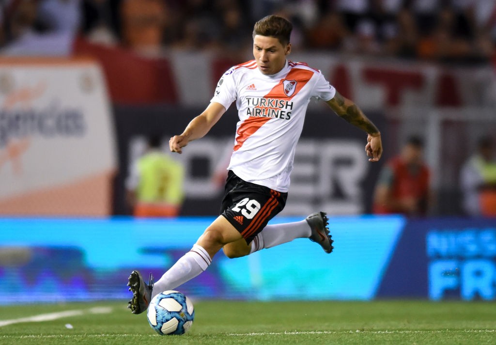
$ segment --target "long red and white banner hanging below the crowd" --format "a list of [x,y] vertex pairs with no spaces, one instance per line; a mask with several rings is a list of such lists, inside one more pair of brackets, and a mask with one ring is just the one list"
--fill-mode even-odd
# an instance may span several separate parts
[[[229,57],[169,51],[145,58],[135,53],[78,40],[76,55],[90,55],[105,71],[112,101],[118,104],[176,104],[205,107]],[[462,107],[494,104],[492,66],[444,67],[381,59],[344,59],[330,54],[292,54],[290,60],[320,69],[338,91],[363,109],[387,107]]]

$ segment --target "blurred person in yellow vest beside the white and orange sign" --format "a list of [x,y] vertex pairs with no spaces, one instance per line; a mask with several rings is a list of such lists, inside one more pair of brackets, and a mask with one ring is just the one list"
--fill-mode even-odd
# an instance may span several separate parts
[[183,165],[161,150],[161,139],[148,138],[145,153],[126,180],[127,202],[138,217],[177,216],[184,199]]

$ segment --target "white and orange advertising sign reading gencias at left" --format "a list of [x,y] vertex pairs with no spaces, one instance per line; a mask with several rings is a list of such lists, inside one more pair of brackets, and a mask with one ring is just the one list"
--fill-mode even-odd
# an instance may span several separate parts
[[96,63],[0,59],[0,214],[109,214],[111,120]]

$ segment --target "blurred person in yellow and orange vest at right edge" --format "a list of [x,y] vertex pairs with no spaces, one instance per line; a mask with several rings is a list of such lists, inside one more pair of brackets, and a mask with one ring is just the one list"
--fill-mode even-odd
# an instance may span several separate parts
[[496,215],[495,143],[490,137],[479,140],[476,152],[463,165],[460,183],[467,214]]

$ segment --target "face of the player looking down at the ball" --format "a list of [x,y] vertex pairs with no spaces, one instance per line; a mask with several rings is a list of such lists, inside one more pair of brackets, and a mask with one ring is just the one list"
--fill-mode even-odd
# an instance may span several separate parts
[[255,35],[253,38],[253,57],[263,74],[271,75],[283,69],[290,52],[291,43],[283,46],[275,37]]

